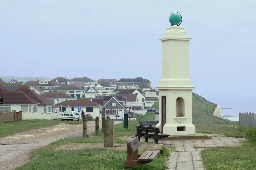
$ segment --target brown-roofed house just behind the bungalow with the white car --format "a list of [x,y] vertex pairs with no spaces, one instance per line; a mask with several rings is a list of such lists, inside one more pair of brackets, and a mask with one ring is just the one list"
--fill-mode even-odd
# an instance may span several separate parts
[[66,100],[75,100],[74,98],[70,97],[66,93],[59,93],[59,92],[50,92],[50,93],[43,93],[41,94],[46,99],[53,99],[54,104],[66,101]]

